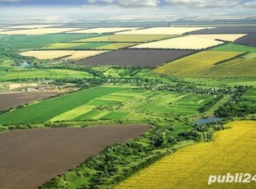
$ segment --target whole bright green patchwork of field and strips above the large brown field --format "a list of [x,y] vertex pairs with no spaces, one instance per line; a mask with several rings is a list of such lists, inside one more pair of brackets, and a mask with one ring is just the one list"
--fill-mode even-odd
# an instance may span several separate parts
[[[166,113],[197,114],[198,108],[211,99],[211,96],[208,95],[185,95],[167,91],[156,92],[154,90],[102,86],[48,99],[5,113],[0,116],[0,123],[122,118],[141,120],[165,117]],[[27,113],[31,116],[27,117]],[[15,119],[12,119],[14,117]]]

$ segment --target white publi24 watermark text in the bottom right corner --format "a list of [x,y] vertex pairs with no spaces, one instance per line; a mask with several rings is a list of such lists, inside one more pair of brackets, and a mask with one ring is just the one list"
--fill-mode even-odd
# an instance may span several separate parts
[[226,175],[210,175],[208,179],[208,185],[214,183],[250,183],[256,182],[256,174],[250,173],[227,173]]

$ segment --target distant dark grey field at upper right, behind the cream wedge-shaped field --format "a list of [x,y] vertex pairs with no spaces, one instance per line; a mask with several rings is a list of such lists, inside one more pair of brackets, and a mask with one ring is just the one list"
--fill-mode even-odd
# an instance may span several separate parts
[[211,34],[252,34],[256,33],[256,27],[217,27],[213,29],[197,30],[188,32],[190,35],[211,35]]

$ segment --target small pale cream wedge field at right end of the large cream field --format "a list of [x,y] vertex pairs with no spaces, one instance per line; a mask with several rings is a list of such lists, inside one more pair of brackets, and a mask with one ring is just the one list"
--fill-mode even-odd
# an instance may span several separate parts
[[224,41],[234,42],[236,39],[244,37],[247,34],[237,34],[237,35],[193,35],[195,37],[205,38],[205,39],[220,39]]

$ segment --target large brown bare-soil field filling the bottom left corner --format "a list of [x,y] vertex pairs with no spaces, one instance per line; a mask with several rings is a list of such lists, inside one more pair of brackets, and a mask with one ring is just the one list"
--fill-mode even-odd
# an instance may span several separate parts
[[93,154],[149,130],[145,125],[48,128],[0,134],[0,188],[35,189]]

